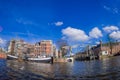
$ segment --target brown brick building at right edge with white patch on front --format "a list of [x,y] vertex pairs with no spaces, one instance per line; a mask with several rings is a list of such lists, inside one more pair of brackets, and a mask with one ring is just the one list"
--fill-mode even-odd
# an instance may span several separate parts
[[120,53],[120,42],[116,43],[102,43],[99,45],[92,47],[92,50],[95,55],[102,55],[103,53],[106,55],[116,55]]

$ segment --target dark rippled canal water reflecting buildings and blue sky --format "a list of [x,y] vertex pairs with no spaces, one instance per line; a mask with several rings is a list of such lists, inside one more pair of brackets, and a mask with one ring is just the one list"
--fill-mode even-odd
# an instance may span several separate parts
[[120,56],[54,64],[1,59],[0,80],[120,80]]

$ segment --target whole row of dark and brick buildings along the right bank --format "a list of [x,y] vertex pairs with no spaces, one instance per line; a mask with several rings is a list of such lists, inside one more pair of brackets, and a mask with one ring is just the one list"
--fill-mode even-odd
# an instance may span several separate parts
[[101,59],[104,57],[117,56],[120,55],[120,42],[108,42],[90,47],[83,52],[78,52],[75,56],[77,60],[86,60],[86,59]]

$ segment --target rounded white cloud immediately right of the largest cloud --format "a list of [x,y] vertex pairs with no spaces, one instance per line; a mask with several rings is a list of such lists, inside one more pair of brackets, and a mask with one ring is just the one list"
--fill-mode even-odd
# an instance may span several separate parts
[[90,38],[99,38],[102,37],[103,35],[101,30],[99,30],[98,27],[95,27],[89,32],[89,36]]

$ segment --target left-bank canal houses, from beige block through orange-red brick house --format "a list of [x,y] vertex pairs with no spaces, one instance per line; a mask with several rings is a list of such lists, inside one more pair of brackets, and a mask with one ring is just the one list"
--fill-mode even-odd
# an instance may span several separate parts
[[52,40],[42,40],[36,42],[35,44],[29,44],[24,40],[11,40],[8,47],[8,54],[12,55],[24,55],[29,54],[29,56],[53,56],[55,46]]

